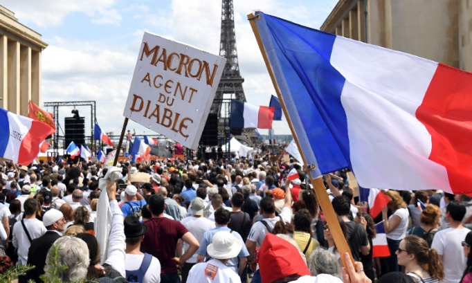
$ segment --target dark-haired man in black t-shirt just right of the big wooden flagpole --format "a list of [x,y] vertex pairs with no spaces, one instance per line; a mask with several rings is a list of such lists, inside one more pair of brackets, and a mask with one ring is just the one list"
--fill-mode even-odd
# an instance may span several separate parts
[[363,255],[368,255],[370,252],[370,244],[367,239],[367,232],[365,232],[365,228],[361,226],[361,224],[350,221],[349,212],[351,211],[351,205],[346,197],[334,197],[332,205],[336,215],[343,219],[344,223],[346,224],[346,240],[347,243],[350,244],[352,257],[354,257],[354,260],[359,261],[359,250]]

